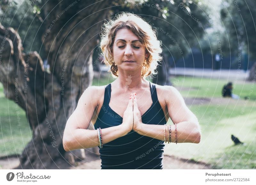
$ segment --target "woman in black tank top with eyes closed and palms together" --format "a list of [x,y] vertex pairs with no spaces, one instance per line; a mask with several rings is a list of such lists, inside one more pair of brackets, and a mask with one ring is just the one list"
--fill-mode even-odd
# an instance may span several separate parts
[[[162,169],[164,142],[200,142],[196,116],[175,88],[145,80],[162,52],[147,22],[122,13],[104,27],[101,50],[117,79],[84,91],[67,121],[64,149],[99,146],[101,169]],[[174,125],[166,125],[169,118]],[[88,130],[90,122],[96,130]]]

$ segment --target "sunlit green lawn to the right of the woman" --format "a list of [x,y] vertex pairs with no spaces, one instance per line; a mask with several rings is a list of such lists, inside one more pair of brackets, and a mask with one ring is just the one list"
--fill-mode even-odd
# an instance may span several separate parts
[[[173,82],[184,98],[200,98],[197,104],[188,105],[199,120],[202,138],[199,144],[167,144],[164,153],[180,158],[193,159],[212,164],[216,169],[255,169],[256,168],[256,106],[255,90],[251,82],[238,82],[234,94],[245,99],[221,98],[224,80],[176,77]],[[209,90],[206,90],[209,88]],[[183,89],[183,90],[182,90]],[[205,97],[210,100],[203,100]],[[200,104],[200,103],[203,104]],[[171,120],[168,122],[172,124]],[[178,127],[178,126],[177,126]],[[246,145],[234,146],[231,134]]]

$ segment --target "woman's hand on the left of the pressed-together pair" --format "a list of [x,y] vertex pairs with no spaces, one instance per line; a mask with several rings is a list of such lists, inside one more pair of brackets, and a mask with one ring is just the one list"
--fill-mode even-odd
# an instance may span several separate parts
[[129,133],[133,128],[133,94],[131,94],[129,98],[129,102],[126,110],[124,111],[123,123],[124,129],[127,133]]

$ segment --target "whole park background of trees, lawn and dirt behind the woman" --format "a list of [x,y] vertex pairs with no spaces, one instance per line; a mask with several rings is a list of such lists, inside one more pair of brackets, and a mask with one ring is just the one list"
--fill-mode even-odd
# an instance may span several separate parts
[[[83,91],[114,81],[99,41],[118,12],[157,31],[164,59],[148,80],[177,88],[201,126],[199,144],[166,144],[164,169],[255,169],[253,0],[1,1],[0,169],[100,169],[97,148],[61,141]],[[239,99],[221,97],[230,81]]]

